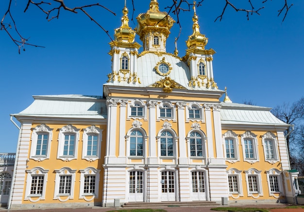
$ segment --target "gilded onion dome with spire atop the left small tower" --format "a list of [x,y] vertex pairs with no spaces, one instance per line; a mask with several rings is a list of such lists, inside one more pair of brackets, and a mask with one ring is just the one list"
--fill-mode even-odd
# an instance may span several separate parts
[[115,30],[115,40],[132,43],[135,38],[135,32],[129,27],[128,8],[126,5],[122,9],[123,16],[121,18],[121,27]]

